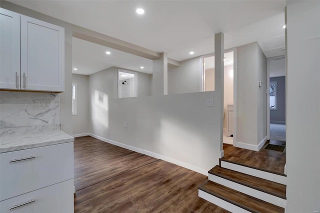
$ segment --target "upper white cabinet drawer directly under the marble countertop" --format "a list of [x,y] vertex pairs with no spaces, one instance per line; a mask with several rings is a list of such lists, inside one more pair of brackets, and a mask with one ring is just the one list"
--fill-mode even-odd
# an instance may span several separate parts
[[0,200],[73,178],[73,142],[0,154]]

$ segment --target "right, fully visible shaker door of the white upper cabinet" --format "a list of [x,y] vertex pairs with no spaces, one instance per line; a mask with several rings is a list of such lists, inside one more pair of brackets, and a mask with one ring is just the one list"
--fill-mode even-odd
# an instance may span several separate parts
[[64,91],[64,28],[21,15],[21,89]]

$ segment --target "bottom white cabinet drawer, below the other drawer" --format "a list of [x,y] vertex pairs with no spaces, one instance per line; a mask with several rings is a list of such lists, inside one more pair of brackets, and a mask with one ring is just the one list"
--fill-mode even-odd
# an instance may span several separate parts
[[0,212],[73,213],[73,179],[0,201]]

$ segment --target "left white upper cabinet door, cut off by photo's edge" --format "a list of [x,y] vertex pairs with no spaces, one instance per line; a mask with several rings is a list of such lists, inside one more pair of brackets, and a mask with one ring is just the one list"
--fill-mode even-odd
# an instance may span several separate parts
[[0,88],[19,88],[20,15],[0,8]]

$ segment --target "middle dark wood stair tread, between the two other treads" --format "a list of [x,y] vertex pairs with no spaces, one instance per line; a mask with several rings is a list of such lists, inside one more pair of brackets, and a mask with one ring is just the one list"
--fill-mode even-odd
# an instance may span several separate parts
[[231,169],[222,168],[218,165],[209,170],[209,173],[286,199],[286,185],[284,184],[233,171]]

